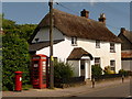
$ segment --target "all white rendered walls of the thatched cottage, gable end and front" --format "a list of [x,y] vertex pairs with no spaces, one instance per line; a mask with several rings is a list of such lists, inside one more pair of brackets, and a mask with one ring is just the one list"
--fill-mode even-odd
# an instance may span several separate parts
[[[48,35],[42,35],[43,31],[47,32],[48,29],[40,31],[36,35],[40,36],[42,41],[48,41]],[[90,53],[94,57],[100,57],[101,59],[101,67],[105,69],[106,66],[110,66],[110,61],[116,61],[116,72],[118,73],[121,69],[121,44],[116,43],[116,53],[110,53],[110,43],[109,42],[100,42],[100,48],[96,48],[96,41],[95,40],[85,40],[85,38],[77,38],[77,46],[72,45],[72,38],[67,37],[62,34],[57,29],[53,31],[55,40],[65,40],[58,44],[54,44],[53,46],[53,56],[58,57],[58,59],[66,62],[67,57],[69,56],[70,52],[74,47],[82,47],[85,51]],[[43,40],[45,38],[45,40]],[[35,42],[35,41],[34,41]],[[43,50],[36,51],[36,54],[45,54],[50,56],[50,47],[45,47]],[[94,61],[90,63],[91,65],[95,64]]]

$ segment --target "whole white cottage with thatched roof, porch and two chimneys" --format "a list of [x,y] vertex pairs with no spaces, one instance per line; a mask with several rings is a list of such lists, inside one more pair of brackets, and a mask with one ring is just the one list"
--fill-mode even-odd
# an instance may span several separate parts
[[[89,19],[85,9],[80,15],[54,9],[54,57],[73,65],[76,77],[91,78],[91,66],[121,69],[121,40],[106,26],[106,16]],[[30,38],[31,54],[50,56],[50,13],[40,22]]]

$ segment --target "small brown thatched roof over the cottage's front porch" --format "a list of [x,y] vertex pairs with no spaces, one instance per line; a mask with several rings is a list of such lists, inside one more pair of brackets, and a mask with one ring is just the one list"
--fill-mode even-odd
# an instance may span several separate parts
[[72,51],[70,55],[68,56],[67,61],[73,61],[73,59],[74,61],[75,59],[79,61],[82,56],[89,56],[90,59],[94,58],[92,55],[90,53],[86,52],[84,48],[81,48],[81,47],[75,47]]

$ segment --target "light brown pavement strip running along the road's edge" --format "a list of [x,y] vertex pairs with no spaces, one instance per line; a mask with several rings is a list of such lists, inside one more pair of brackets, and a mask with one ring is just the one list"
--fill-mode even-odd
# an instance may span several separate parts
[[102,81],[96,81],[95,88],[92,88],[91,81],[84,86],[70,87],[70,88],[55,88],[55,89],[30,89],[22,90],[21,92],[15,91],[2,91],[2,97],[76,97],[76,95],[92,92],[103,88],[113,86],[120,86],[125,82],[130,82],[132,78],[124,78],[122,82],[121,78],[108,79]]

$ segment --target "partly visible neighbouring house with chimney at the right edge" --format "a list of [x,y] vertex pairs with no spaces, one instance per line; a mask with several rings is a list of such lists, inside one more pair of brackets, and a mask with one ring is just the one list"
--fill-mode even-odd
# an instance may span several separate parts
[[122,69],[132,70],[132,32],[121,28],[120,34],[118,35],[121,41],[121,59]]

